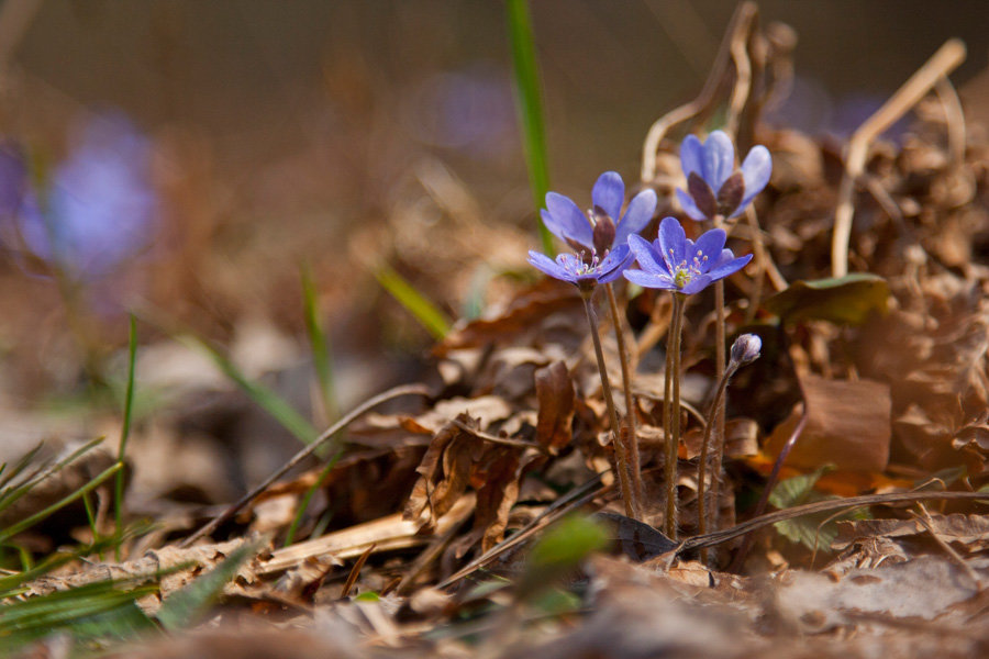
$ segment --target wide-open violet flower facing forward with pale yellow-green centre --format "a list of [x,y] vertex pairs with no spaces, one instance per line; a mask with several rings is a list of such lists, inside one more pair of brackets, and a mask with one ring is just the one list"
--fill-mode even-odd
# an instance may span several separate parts
[[625,270],[625,279],[645,288],[658,288],[689,295],[712,281],[737,272],[752,255],[735,258],[724,248],[725,233],[712,228],[689,239],[674,217],[659,223],[659,237],[652,244],[641,236],[629,236],[629,247],[642,270]]

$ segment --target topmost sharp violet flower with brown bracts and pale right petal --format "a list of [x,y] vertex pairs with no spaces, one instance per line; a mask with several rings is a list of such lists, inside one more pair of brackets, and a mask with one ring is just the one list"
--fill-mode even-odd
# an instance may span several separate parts
[[722,131],[714,131],[701,144],[688,135],[680,145],[680,166],[687,191],[677,188],[677,199],[693,220],[715,215],[734,217],[763,191],[773,172],[773,158],[763,145],[752,147],[742,169],[735,169],[735,147]]

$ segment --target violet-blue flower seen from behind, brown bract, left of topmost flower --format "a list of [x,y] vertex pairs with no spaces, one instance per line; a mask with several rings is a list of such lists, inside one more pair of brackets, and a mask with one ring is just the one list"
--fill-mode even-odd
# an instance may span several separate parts
[[541,212],[543,224],[576,252],[603,256],[645,228],[656,211],[656,192],[646,189],[632,198],[623,215],[625,183],[616,171],[605,171],[598,178],[591,201],[593,209],[585,215],[569,197],[548,192],[546,209]]

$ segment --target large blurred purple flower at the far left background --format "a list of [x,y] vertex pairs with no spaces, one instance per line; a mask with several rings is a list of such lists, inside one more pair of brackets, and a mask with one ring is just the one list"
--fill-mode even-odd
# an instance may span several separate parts
[[84,279],[114,270],[154,236],[151,155],[147,137],[123,114],[90,118],[52,171],[44,217],[20,213],[24,245]]

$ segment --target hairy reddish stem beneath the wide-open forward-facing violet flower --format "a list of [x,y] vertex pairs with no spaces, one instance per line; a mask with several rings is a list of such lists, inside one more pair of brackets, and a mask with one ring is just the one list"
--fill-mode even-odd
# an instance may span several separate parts
[[666,535],[677,539],[677,447],[680,444],[680,336],[687,297],[674,293],[669,336],[666,339],[666,382],[663,390],[663,431],[666,439]]

